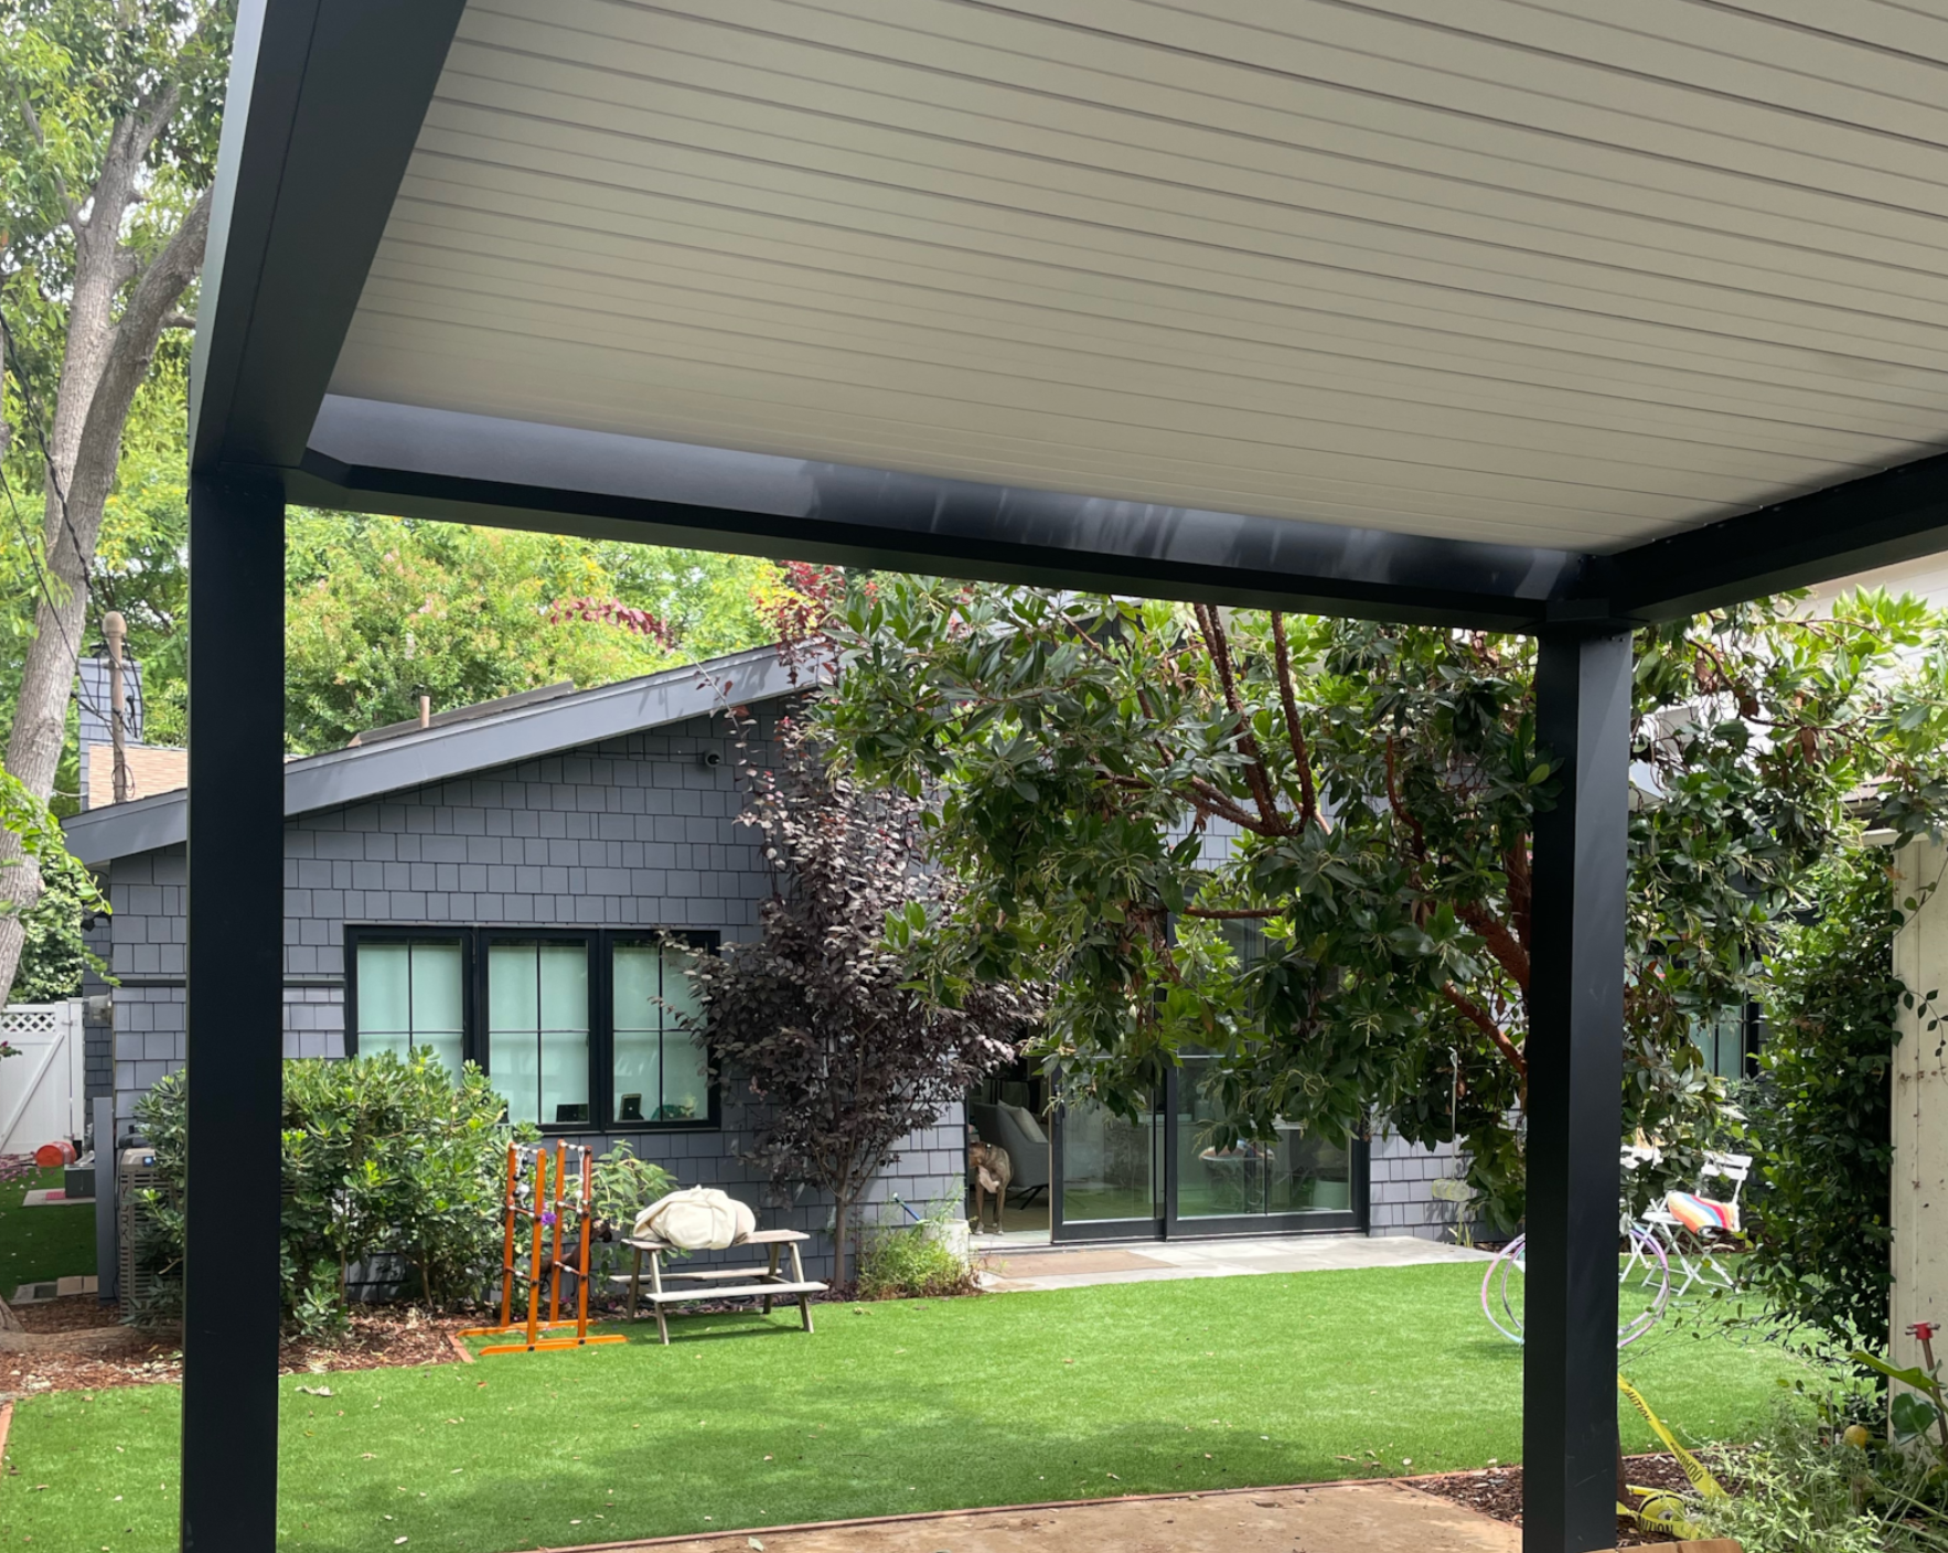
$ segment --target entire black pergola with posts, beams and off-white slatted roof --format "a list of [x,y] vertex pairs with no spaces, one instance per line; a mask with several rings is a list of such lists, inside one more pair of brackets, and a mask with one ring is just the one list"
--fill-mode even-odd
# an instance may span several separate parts
[[1533,633],[1525,1547],[1613,1545],[1629,633],[1948,548],[1948,47],[1775,10],[245,0],[183,1547],[277,1524],[286,503]]

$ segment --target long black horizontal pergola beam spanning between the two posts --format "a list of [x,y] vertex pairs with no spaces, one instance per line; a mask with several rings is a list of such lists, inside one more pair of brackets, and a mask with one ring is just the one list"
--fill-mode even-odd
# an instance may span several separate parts
[[[292,503],[997,583],[1517,631],[1562,549],[812,464],[331,396]],[[1599,610],[1601,612],[1601,610]]]

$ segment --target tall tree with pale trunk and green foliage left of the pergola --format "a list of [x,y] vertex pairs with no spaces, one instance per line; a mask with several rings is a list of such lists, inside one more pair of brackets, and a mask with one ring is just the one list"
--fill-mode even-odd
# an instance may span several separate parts
[[[33,470],[39,524],[6,493],[39,602],[6,770],[47,801],[90,625],[123,431],[203,267],[232,0],[16,0],[0,14],[0,454]],[[37,530],[37,532],[35,532]],[[0,1002],[39,867],[0,832]]]

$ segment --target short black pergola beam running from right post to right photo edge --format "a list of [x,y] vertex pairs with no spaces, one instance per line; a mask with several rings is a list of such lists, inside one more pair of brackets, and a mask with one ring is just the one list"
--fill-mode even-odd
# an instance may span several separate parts
[[1617,614],[1683,620],[1948,549],[1948,454],[1615,555]]

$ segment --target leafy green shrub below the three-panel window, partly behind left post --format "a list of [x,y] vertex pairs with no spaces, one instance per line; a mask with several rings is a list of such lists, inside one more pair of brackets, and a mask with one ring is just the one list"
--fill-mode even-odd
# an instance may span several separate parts
[[[181,1304],[187,1081],[171,1074],[136,1105],[162,1189],[138,1247],[158,1298],[138,1317]],[[479,1292],[501,1259],[505,1103],[468,1064],[454,1078],[425,1052],[284,1064],[284,1315],[300,1331],[345,1321],[347,1274],[397,1259],[403,1286],[429,1304]]]

